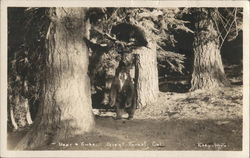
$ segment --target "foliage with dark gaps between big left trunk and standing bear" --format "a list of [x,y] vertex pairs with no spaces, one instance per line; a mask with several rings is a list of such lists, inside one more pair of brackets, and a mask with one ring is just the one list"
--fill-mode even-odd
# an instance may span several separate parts
[[83,39],[90,49],[88,75],[90,77],[91,94],[93,98],[95,98],[94,96],[102,96],[101,105],[106,106],[109,103],[110,88],[121,55],[111,50],[109,46],[101,46],[87,38]]

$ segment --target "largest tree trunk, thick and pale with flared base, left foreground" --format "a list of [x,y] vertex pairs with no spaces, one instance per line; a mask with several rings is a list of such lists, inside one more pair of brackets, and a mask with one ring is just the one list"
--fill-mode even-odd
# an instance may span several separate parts
[[44,96],[32,129],[16,149],[31,149],[89,132],[94,126],[88,71],[86,10],[50,9]]

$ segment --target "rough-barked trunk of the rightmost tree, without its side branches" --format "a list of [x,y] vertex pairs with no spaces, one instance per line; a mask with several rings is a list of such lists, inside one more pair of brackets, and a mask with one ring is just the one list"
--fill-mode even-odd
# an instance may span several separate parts
[[210,12],[201,9],[197,17],[190,90],[214,89],[228,85],[229,82],[225,76],[220,55],[218,33],[215,30]]

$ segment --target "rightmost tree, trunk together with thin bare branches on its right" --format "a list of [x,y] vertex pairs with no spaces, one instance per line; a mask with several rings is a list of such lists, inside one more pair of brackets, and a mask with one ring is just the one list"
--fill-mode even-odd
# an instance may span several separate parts
[[214,89],[229,85],[220,49],[241,29],[242,9],[195,8],[194,65],[191,89]]

